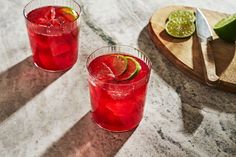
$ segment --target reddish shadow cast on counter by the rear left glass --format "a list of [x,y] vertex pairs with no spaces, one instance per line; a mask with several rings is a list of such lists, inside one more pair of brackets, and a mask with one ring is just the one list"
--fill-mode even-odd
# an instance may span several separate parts
[[25,105],[64,72],[49,73],[33,64],[32,57],[0,74],[0,122]]

